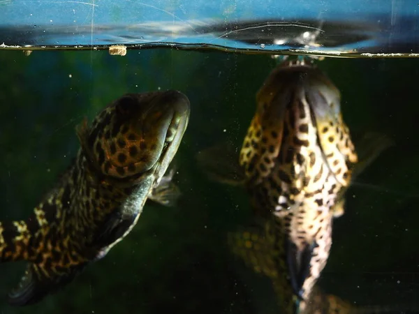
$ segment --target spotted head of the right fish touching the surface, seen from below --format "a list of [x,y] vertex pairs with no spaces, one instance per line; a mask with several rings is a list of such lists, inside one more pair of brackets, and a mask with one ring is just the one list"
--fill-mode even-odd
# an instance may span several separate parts
[[301,61],[281,63],[260,87],[256,103],[240,154],[248,178],[263,181],[278,162],[300,162],[300,168],[304,160],[296,152],[306,146],[307,151],[319,147],[316,159],[327,163],[338,181],[348,183],[347,168],[357,155],[342,118],[340,92],[321,70]]

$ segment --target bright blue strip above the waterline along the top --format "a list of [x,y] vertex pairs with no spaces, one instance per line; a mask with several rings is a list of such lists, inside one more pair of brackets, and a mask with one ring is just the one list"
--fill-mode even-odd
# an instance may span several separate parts
[[0,48],[418,57],[414,0],[0,2]]

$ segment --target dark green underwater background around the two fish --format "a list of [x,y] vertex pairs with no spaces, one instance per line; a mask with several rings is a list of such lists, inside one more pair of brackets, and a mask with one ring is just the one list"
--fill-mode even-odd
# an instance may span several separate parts
[[[341,90],[355,144],[367,131],[396,143],[348,190],[320,284],[358,304],[409,304],[419,291],[419,60],[318,64]],[[36,306],[6,304],[24,264],[1,264],[0,314],[275,313],[270,281],[226,248],[226,232],[251,213],[244,191],[208,181],[195,162],[200,149],[218,142],[241,145],[274,60],[176,50],[130,50],[125,57],[0,51],[0,65],[0,219],[29,215],[75,156],[82,117],[91,120],[125,92],[178,89],[191,100],[176,158],[179,205],[148,202],[124,241]]]

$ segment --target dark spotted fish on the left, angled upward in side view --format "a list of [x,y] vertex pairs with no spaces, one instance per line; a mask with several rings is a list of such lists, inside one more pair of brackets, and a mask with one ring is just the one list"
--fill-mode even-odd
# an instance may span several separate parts
[[131,232],[147,199],[177,199],[168,193],[168,168],[189,114],[181,92],[152,91],[124,94],[91,126],[82,121],[76,157],[31,216],[0,222],[0,262],[27,262],[9,304],[36,304],[105,257]]

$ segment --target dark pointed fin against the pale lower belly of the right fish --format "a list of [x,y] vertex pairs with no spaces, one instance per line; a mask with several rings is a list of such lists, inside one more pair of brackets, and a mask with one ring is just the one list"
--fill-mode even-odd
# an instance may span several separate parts
[[286,262],[288,265],[288,274],[290,276],[291,287],[295,295],[302,299],[302,286],[310,274],[310,262],[313,257],[313,250],[317,244],[307,244],[302,250],[299,250],[289,239],[286,240]]

